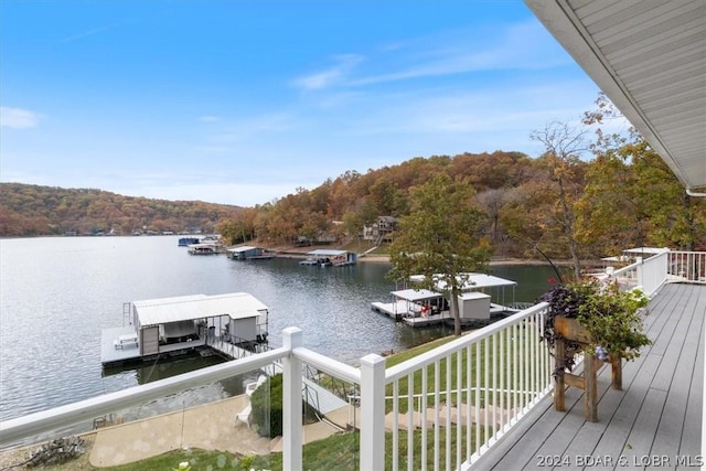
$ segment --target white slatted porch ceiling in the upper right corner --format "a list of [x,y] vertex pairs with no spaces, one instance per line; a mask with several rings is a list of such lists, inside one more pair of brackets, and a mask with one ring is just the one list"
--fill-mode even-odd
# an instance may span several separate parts
[[524,0],[689,192],[706,192],[706,2]]

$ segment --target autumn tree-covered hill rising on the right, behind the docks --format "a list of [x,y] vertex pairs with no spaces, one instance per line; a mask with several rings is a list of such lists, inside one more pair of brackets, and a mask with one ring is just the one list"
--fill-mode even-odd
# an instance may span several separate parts
[[[485,215],[494,255],[581,260],[639,246],[706,250],[706,199],[685,193],[663,160],[600,95],[580,125],[552,122],[531,133],[545,149],[414,158],[397,165],[347,171],[315,189],[245,208],[223,222],[233,243],[270,245],[357,237],[379,216],[409,218],[414,192],[445,174],[468,185]],[[592,156],[592,158],[587,158]],[[404,225],[403,225],[404,226]],[[430,234],[429,237],[434,237]]]

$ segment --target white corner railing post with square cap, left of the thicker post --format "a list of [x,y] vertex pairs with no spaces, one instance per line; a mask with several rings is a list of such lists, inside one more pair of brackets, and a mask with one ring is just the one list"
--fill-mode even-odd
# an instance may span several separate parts
[[301,360],[291,351],[302,345],[302,332],[299,328],[282,331],[284,347],[289,355],[282,358],[282,464],[284,469],[300,471],[302,468],[301,438]]

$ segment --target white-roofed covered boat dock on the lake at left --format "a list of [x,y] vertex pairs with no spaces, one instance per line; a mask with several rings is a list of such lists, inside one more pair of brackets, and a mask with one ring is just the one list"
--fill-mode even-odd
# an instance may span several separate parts
[[267,340],[268,309],[245,292],[126,302],[122,317],[121,328],[103,330],[104,366]]

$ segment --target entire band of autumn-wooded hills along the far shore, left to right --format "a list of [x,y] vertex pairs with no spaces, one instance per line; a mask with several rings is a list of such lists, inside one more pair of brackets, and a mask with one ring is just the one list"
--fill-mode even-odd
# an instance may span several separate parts
[[342,246],[381,216],[408,217],[414,193],[445,175],[470,190],[467,204],[482,214],[482,240],[495,256],[578,260],[635,246],[706,250],[706,199],[686,194],[634,130],[601,131],[618,116],[605,98],[597,104],[584,117],[584,126],[597,127],[591,139],[587,128],[549,124],[532,133],[546,149],[537,158],[502,150],[416,157],[349,170],[254,207],[0,183],[0,236],[217,232],[228,244]]

